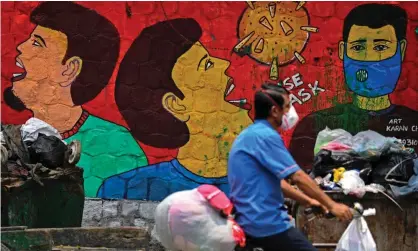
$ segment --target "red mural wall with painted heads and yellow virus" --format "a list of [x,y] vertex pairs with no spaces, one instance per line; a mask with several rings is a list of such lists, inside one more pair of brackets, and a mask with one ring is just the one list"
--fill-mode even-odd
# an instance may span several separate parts
[[[2,2],[2,123],[82,143],[88,197],[228,192],[253,94],[281,83],[310,167],[325,126],[418,150],[418,3]],[[373,13],[373,15],[370,15]]]

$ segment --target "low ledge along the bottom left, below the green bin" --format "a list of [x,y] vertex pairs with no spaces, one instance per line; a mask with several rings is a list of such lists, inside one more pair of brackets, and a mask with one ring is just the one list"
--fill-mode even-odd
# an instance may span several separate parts
[[139,227],[29,229],[2,231],[2,242],[11,250],[19,251],[51,250],[52,244],[55,249],[57,246],[69,248],[63,250],[80,250],[76,247],[83,247],[84,250],[164,250],[152,241],[150,232],[147,228]]

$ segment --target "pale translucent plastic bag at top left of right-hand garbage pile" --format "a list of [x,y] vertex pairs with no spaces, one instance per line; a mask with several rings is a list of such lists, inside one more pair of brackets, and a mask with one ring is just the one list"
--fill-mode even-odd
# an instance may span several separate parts
[[321,148],[331,141],[335,144],[338,143],[338,147],[348,148],[351,147],[351,138],[353,136],[343,130],[343,129],[335,129],[331,130],[326,127],[324,130],[318,133],[316,137],[315,147],[314,147],[314,154],[317,154]]

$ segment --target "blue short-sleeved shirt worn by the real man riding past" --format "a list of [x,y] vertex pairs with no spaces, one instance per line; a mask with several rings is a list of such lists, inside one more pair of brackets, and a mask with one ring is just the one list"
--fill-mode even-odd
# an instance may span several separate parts
[[266,237],[291,227],[280,181],[298,170],[267,120],[256,120],[236,138],[228,159],[228,181],[236,221],[246,234]]

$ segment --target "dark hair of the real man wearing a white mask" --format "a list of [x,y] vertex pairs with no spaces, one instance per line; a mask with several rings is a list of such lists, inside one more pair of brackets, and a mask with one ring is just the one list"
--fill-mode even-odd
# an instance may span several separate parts
[[277,84],[263,84],[261,90],[257,91],[254,96],[255,119],[268,118],[271,107],[276,105],[267,95],[283,109],[284,96],[289,95],[289,91]]

